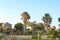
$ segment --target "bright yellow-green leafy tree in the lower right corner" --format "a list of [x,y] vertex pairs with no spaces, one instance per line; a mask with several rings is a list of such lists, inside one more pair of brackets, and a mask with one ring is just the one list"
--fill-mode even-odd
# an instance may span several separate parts
[[55,28],[51,28],[47,31],[47,34],[50,36],[51,40],[58,38],[60,40],[60,29],[58,31]]

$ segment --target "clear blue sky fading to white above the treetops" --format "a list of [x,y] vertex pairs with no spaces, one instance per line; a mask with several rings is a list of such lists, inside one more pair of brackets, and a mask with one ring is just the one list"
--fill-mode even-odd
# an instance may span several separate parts
[[60,0],[0,0],[0,22],[9,22],[13,26],[22,22],[21,13],[27,11],[30,21],[42,22],[45,13],[51,15],[51,26],[58,27],[60,17]]

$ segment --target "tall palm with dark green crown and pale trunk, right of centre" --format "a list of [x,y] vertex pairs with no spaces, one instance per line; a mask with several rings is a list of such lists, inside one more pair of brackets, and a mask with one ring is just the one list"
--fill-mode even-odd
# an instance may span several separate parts
[[49,29],[49,25],[51,24],[52,22],[52,18],[51,16],[49,15],[49,13],[45,13],[45,15],[43,16],[42,18],[43,22],[44,22],[44,27],[45,27],[45,30]]

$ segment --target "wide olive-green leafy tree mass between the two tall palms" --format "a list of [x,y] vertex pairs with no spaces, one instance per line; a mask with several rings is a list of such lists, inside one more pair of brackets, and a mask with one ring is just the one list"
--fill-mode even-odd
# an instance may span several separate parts
[[43,23],[36,23],[36,21],[34,22],[28,22],[27,23],[28,26],[31,27],[31,30],[34,31],[44,31],[44,25]]

